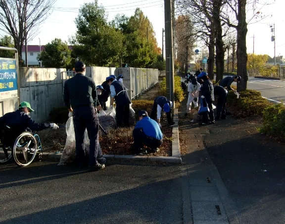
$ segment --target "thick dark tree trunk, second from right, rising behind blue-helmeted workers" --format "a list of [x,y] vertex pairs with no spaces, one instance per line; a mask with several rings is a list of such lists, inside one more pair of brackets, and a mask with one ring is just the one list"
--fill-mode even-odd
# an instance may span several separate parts
[[220,19],[222,0],[213,0],[213,20],[216,31],[216,82],[223,79],[225,64],[225,49],[223,30]]

